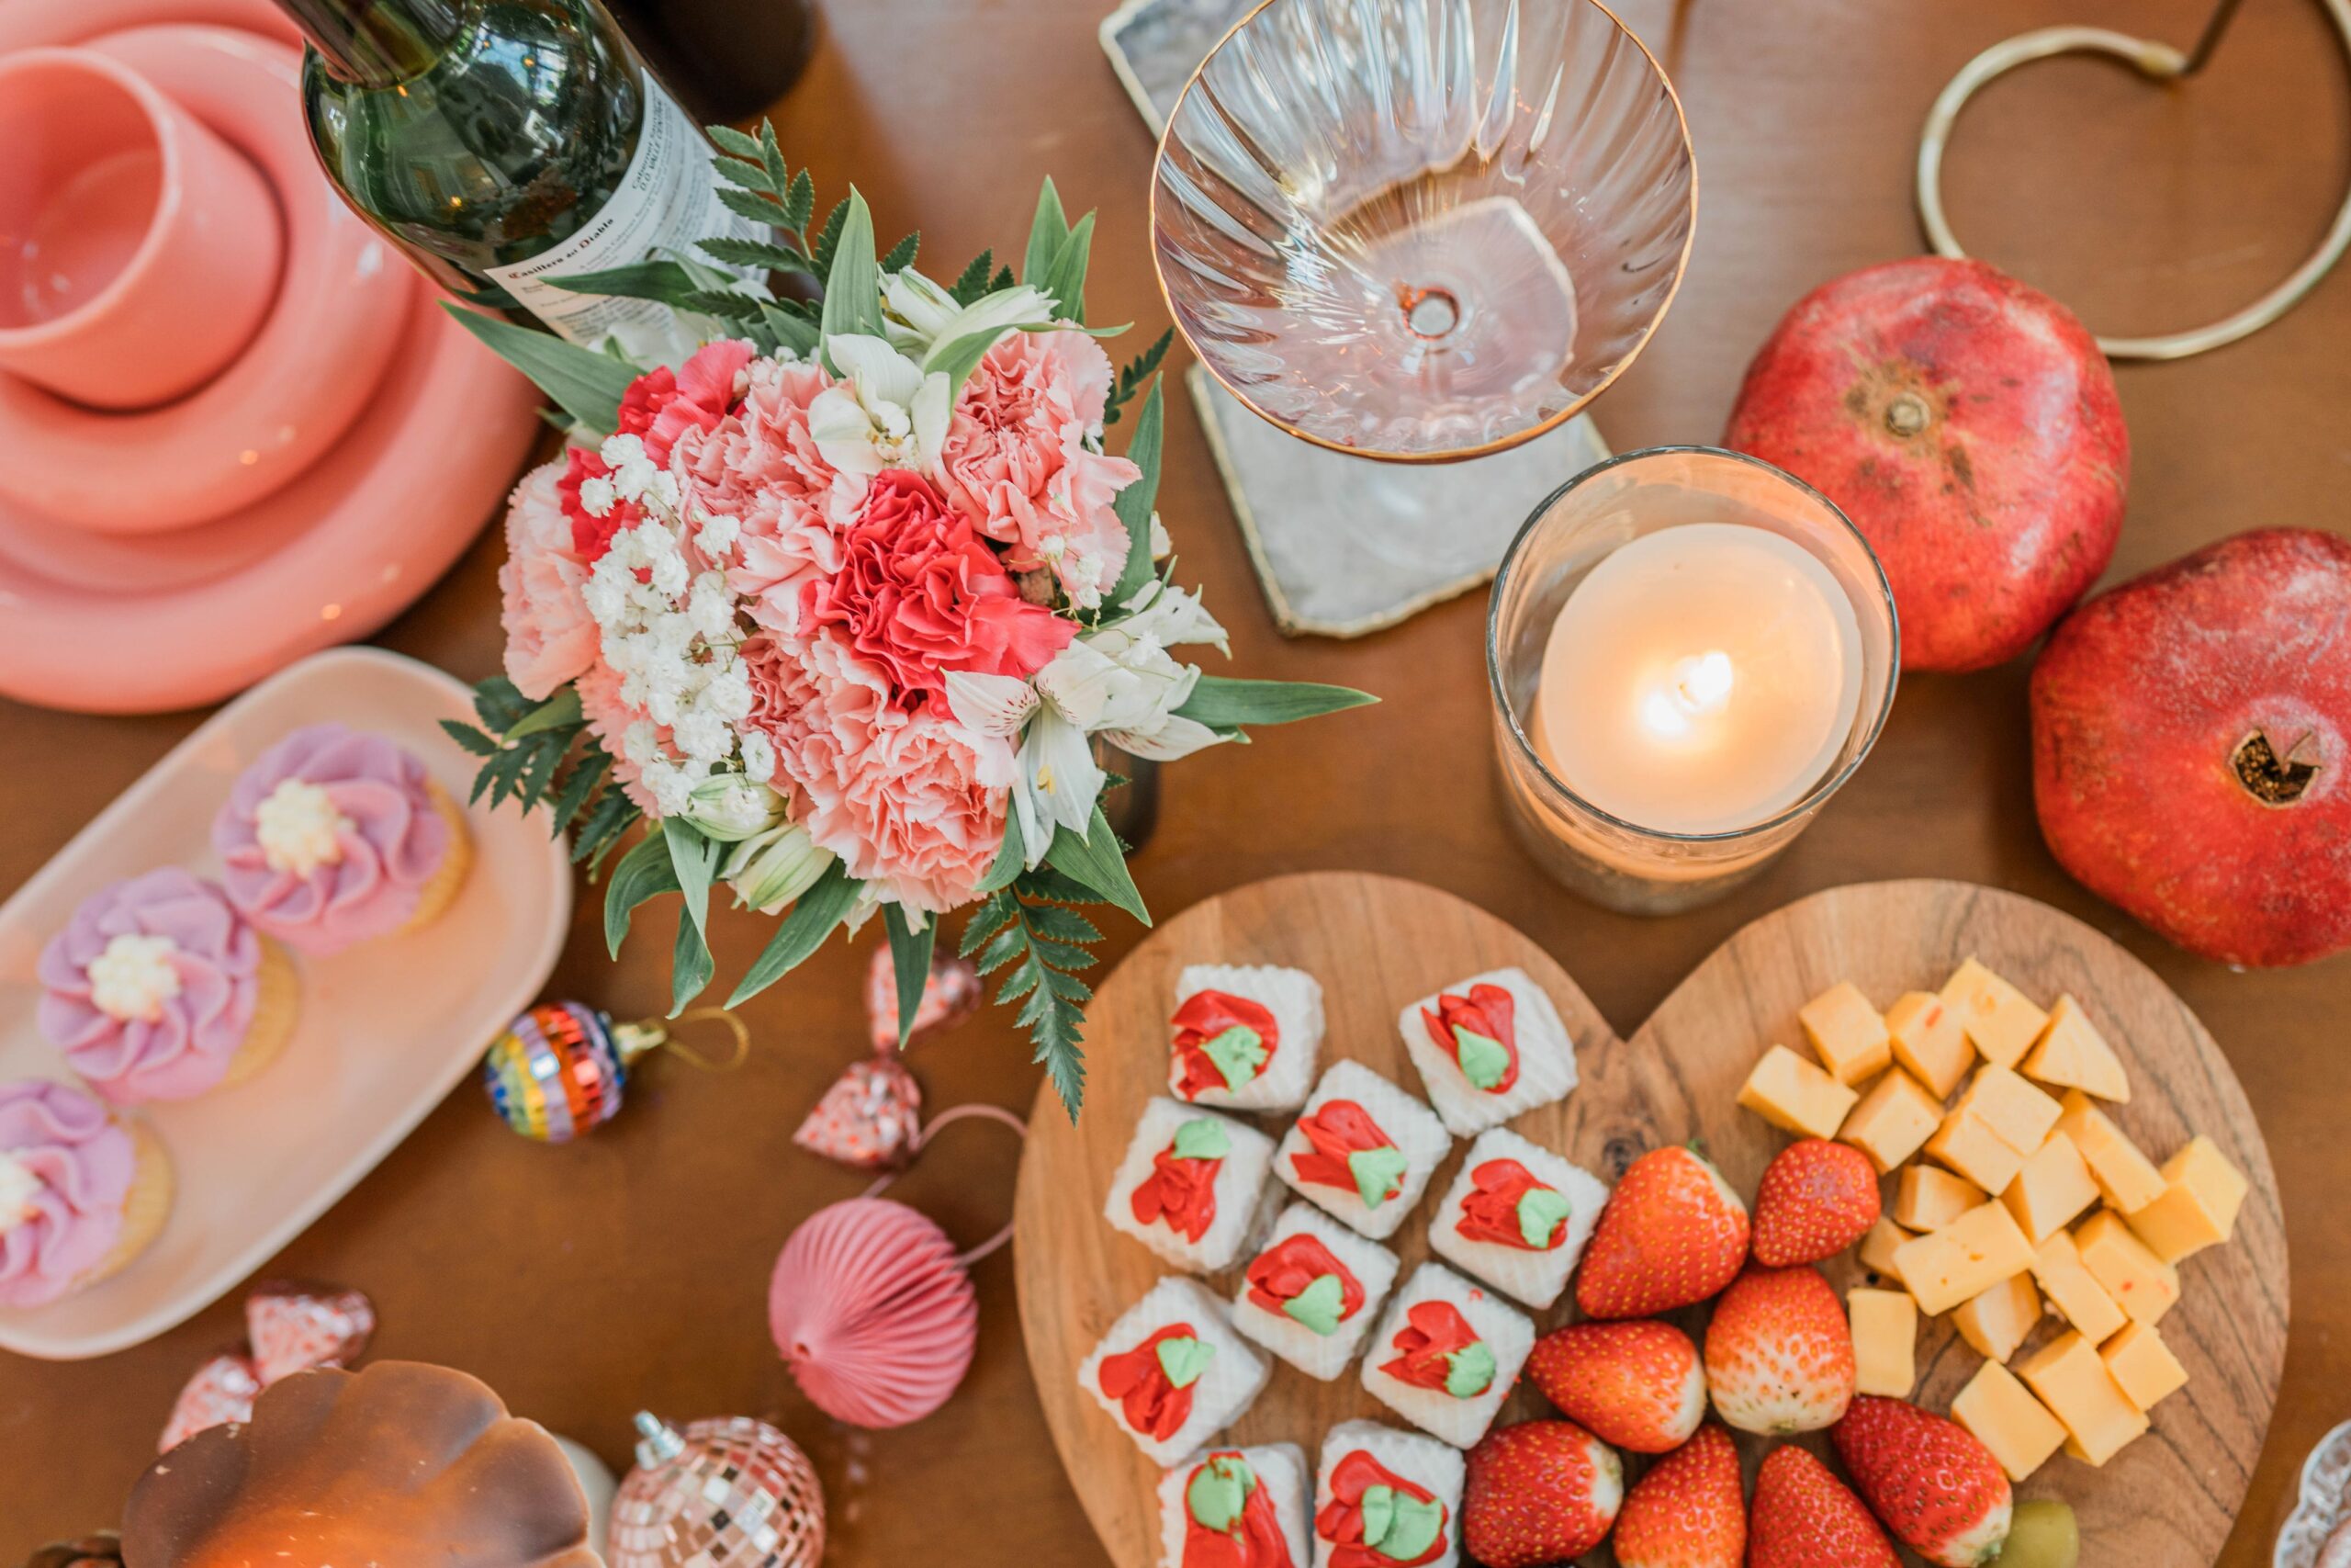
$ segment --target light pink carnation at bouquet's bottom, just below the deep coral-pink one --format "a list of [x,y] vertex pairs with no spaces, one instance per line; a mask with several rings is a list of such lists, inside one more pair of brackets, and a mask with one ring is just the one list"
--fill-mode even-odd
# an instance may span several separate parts
[[792,818],[884,898],[943,914],[971,903],[1004,844],[1013,748],[891,703],[879,665],[835,632],[755,637],[752,722],[776,743]]

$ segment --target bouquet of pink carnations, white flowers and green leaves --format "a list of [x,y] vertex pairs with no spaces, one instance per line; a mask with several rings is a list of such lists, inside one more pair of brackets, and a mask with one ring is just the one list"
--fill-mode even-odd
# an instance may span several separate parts
[[[505,677],[449,733],[482,759],[475,799],[545,804],[590,875],[618,851],[614,954],[639,905],[684,900],[679,1009],[712,978],[712,889],[776,922],[731,1001],[879,910],[900,1034],[938,917],[971,905],[962,950],[1009,971],[997,999],[1074,1117],[1100,940],[1074,905],[1150,919],[1096,738],[1173,759],[1371,698],[1173,654],[1225,651],[1225,630],[1161,567],[1168,339],[1112,371],[1117,329],[1086,324],[1091,214],[1072,226],[1046,181],[1018,277],[983,254],[940,284],[915,237],[877,259],[856,190],[813,223],[771,127],[710,134],[722,197],[771,240],[562,280],[672,306],[703,339],[682,367],[458,313],[571,440],[515,489]],[[778,299],[762,273],[804,287]],[[1103,430],[1145,383],[1112,456]]]

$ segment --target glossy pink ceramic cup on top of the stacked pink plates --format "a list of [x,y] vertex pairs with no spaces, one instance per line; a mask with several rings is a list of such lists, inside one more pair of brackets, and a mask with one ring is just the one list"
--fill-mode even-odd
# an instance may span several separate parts
[[261,172],[122,63],[0,56],[0,369],[101,409],[216,376],[277,292]]

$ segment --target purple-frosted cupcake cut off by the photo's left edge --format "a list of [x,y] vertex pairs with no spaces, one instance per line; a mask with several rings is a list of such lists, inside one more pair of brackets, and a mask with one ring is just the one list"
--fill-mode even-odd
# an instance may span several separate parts
[[92,1286],[162,1232],[172,1161],[143,1126],[42,1079],[0,1084],[0,1305]]

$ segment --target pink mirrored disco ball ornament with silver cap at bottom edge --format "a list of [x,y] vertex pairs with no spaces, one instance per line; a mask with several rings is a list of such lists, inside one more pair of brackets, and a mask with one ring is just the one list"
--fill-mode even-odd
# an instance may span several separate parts
[[816,1568],[825,1493],[792,1439],[748,1415],[686,1429],[637,1413],[637,1469],[611,1502],[611,1568]]

